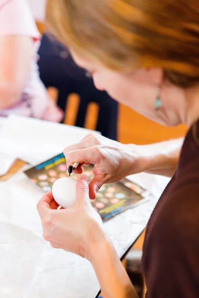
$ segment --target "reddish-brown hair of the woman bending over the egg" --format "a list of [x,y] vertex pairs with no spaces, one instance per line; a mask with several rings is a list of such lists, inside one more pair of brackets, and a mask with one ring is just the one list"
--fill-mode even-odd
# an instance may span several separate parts
[[47,20],[110,69],[157,67],[178,86],[199,82],[199,0],[48,0]]

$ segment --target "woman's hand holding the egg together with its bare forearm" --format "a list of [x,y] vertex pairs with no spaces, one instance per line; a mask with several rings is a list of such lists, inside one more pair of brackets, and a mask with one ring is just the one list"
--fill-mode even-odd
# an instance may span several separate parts
[[77,183],[77,197],[68,209],[56,210],[49,192],[37,204],[43,236],[52,247],[76,253],[91,261],[104,297],[137,298],[129,277],[101,228],[102,221],[89,199],[87,176]]

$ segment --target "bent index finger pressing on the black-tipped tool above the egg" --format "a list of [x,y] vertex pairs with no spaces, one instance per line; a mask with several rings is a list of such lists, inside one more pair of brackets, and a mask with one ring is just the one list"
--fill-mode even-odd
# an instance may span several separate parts
[[70,151],[65,155],[65,158],[67,167],[73,165],[75,162],[96,164],[100,159],[100,152],[94,146],[91,148]]

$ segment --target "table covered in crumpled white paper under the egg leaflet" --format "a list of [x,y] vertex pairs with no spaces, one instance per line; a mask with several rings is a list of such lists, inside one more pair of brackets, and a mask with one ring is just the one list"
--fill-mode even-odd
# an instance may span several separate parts
[[[21,126],[13,126],[13,120],[20,123]],[[52,129],[53,126],[52,124],[43,125],[37,120],[17,117],[8,119],[8,122],[5,123],[6,127],[3,125],[0,129],[0,145],[4,144],[5,150],[10,150],[12,153],[14,151],[17,151],[17,154],[22,152],[29,161],[31,154],[34,155],[34,150],[30,155],[28,151],[24,151],[25,146],[28,149],[31,144],[31,138],[24,135],[27,127],[30,129],[31,135],[36,138],[34,129],[38,133],[37,129],[39,128],[40,133],[44,133],[48,127]],[[77,139],[83,137],[82,129],[73,129],[67,126],[63,128],[59,125],[54,127],[56,127],[56,133],[51,130],[51,135],[58,136],[58,139],[60,130],[65,131],[65,136],[68,134],[71,137],[71,132],[73,132],[73,137],[75,135],[77,135]],[[11,130],[11,140],[9,130]],[[86,134],[87,131],[84,133]],[[22,144],[23,139],[24,143]],[[18,145],[14,143],[15,140],[19,141]],[[66,138],[67,140],[68,138]],[[10,142],[14,143],[12,150]],[[42,138],[38,137],[37,142],[42,142]],[[48,149],[47,140],[44,142],[45,144],[40,144],[41,150]],[[60,140],[60,146],[63,146],[63,140]],[[56,144],[55,154],[58,147]],[[34,162],[39,151],[36,152],[32,159]],[[44,152],[41,152],[37,162],[43,158],[43,154]],[[48,154],[50,151],[47,152]],[[100,285],[90,262],[72,253],[56,250],[43,240],[42,227],[36,210],[36,204],[43,192],[25,176],[23,170],[26,167],[28,166],[23,166],[9,180],[0,182],[0,297],[95,298],[99,293]],[[150,200],[147,203],[104,223],[104,229],[110,235],[120,258],[145,228],[157,202],[159,194],[156,191],[158,189],[161,191],[167,182],[164,179],[164,182],[158,180],[159,178],[155,175],[144,173],[134,175],[130,179],[147,187],[154,196],[149,194]]]

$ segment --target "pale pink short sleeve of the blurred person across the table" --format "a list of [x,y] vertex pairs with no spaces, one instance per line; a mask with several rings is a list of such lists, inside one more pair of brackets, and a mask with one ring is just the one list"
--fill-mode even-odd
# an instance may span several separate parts
[[24,35],[40,39],[27,0],[0,0],[0,35]]

